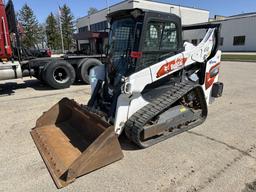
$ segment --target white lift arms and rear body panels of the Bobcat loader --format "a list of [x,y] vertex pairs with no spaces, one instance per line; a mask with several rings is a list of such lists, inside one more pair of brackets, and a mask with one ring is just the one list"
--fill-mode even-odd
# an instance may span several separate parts
[[[125,79],[126,83],[123,87],[122,94],[118,98],[116,107],[114,124],[116,134],[120,135],[123,131],[125,122],[135,112],[148,104],[141,95],[141,92],[146,85],[175,73],[195,62],[203,63],[209,58],[214,46],[214,30],[215,29],[209,29],[199,45],[193,46],[192,44],[185,42],[184,52],[136,72]],[[221,51],[218,51],[217,54],[207,62],[206,74],[209,74],[211,70],[218,70],[220,60]],[[96,86],[97,80],[104,80],[104,69],[104,66],[98,66],[90,71],[92,92]],[[202,85],[208,105],[214,100],[211,96],[211,91],[213,84],[217,81],[218,75],[214,78],[210,78],[206,75],[205,84]]]

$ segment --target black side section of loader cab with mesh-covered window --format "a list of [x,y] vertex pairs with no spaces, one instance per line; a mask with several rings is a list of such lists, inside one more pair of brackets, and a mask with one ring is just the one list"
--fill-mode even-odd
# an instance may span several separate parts
[[140,42],[136,71],[150,67],[183,51],[179,17],[147,13]]

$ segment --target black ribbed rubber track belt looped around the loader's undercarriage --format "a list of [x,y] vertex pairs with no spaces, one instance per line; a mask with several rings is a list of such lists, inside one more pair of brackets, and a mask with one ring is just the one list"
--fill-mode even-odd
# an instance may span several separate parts
[[[195,85],[190,82],[176,84],[166,93],[137,111],[125,124],[125,133],[128,139],[134,142],[140,148],[146,148],[201,124],[204,121],[203,119],[193,126],[187,126],[185,129],[180,129],[175,134],[170,133],[164,135],[162,138],[156,138],[153,141],[151,140],[149,142],[142,142],[140,140],[140,135],[143,131],[143,127],[148,121],[150,121],[156,115],[161,114],[161,112],[165,111],[166,109],[170,108],[171,105],[173,105],[175,102],[177,102],[179,99],[181,99],[183,96],[185,96],[188,92],[195,89],[196,87],[199,87],[199,85]],[[206,107],[207,110],[206,103],[204,107]]]

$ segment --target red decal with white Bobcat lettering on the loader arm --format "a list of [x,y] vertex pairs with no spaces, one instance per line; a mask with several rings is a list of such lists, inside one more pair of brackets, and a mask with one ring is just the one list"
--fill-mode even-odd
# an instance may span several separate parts
[[156,74],[156,77],[157,78],[162,77],[163,75],[173,70],[183,67],[186,61],[187,61],[187,58],[177,58],[176,60],[167,62],[159,69],[159,71]]

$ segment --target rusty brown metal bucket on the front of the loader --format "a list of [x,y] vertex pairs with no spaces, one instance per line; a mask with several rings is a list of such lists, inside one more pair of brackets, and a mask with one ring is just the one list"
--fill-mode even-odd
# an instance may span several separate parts
[[31,135],[58,188],[123,158],[114,128],[67,98],[37,120]]

